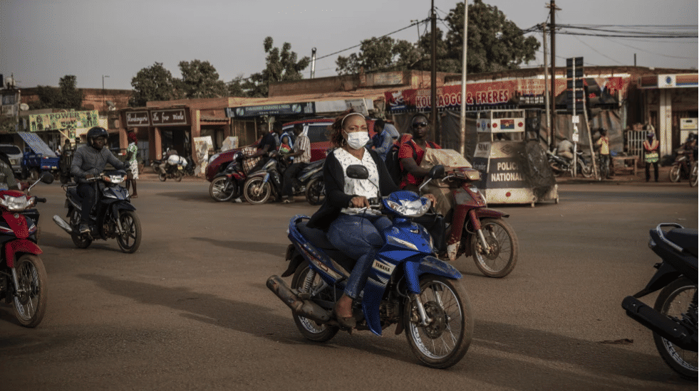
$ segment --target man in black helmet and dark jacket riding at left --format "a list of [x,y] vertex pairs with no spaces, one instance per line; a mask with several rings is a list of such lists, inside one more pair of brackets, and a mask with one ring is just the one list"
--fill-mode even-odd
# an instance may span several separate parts
[[118,170],[125,168],[124,164],[117,159],[112,152],[104,148],[107,143],[107,130],[100,127],[93,127],[88,130],[87,145],[83,145],[76,150],[71,164],[71,173],[78,182],[78,195],[83,198],[81,210],[80,232],[90,232],[90,210],[95,205],[96,190],[88,179],[98,176],[104,171],[109,163]]

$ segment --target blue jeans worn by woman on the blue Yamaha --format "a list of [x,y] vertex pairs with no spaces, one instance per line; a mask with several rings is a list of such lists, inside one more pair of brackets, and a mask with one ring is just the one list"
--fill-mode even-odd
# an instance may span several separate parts
[[345,294],[356,299],[364,289],[368,270],[383,247],[383,232],[391,226],[382,215],[346,215],[341,213],[330,227],[328,240],[348,257],[357,259],[345,286]]

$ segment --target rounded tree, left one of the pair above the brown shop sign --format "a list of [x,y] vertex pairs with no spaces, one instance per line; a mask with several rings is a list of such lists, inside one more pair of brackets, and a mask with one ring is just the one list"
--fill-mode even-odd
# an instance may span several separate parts
[[172,74],[162,66],[155,63],[148,68],[143,68],[131,79],[133,95],[129,99],[129,106],[144,107],[145,102],[153,100],[172,100],[175,95],[175,86]]

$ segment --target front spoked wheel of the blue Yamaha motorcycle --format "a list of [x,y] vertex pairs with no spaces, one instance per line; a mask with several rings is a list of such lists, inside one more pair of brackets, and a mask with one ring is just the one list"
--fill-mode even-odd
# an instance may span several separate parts
[[430,323],[420,323],[415,300],[408,301],[403,324],[410,349],[429,367],[449,368],[463,358],[473,337],[474,319],[466,290],[457,280],[424,274],[420,301]]

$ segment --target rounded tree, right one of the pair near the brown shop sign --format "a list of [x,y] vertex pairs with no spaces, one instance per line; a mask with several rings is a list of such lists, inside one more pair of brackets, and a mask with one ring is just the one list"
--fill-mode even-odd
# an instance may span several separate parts
[[208,61],[180,61],[182,79],[175,79],[175,89],[186,99],[223,97],[227,95],[226,83]]

